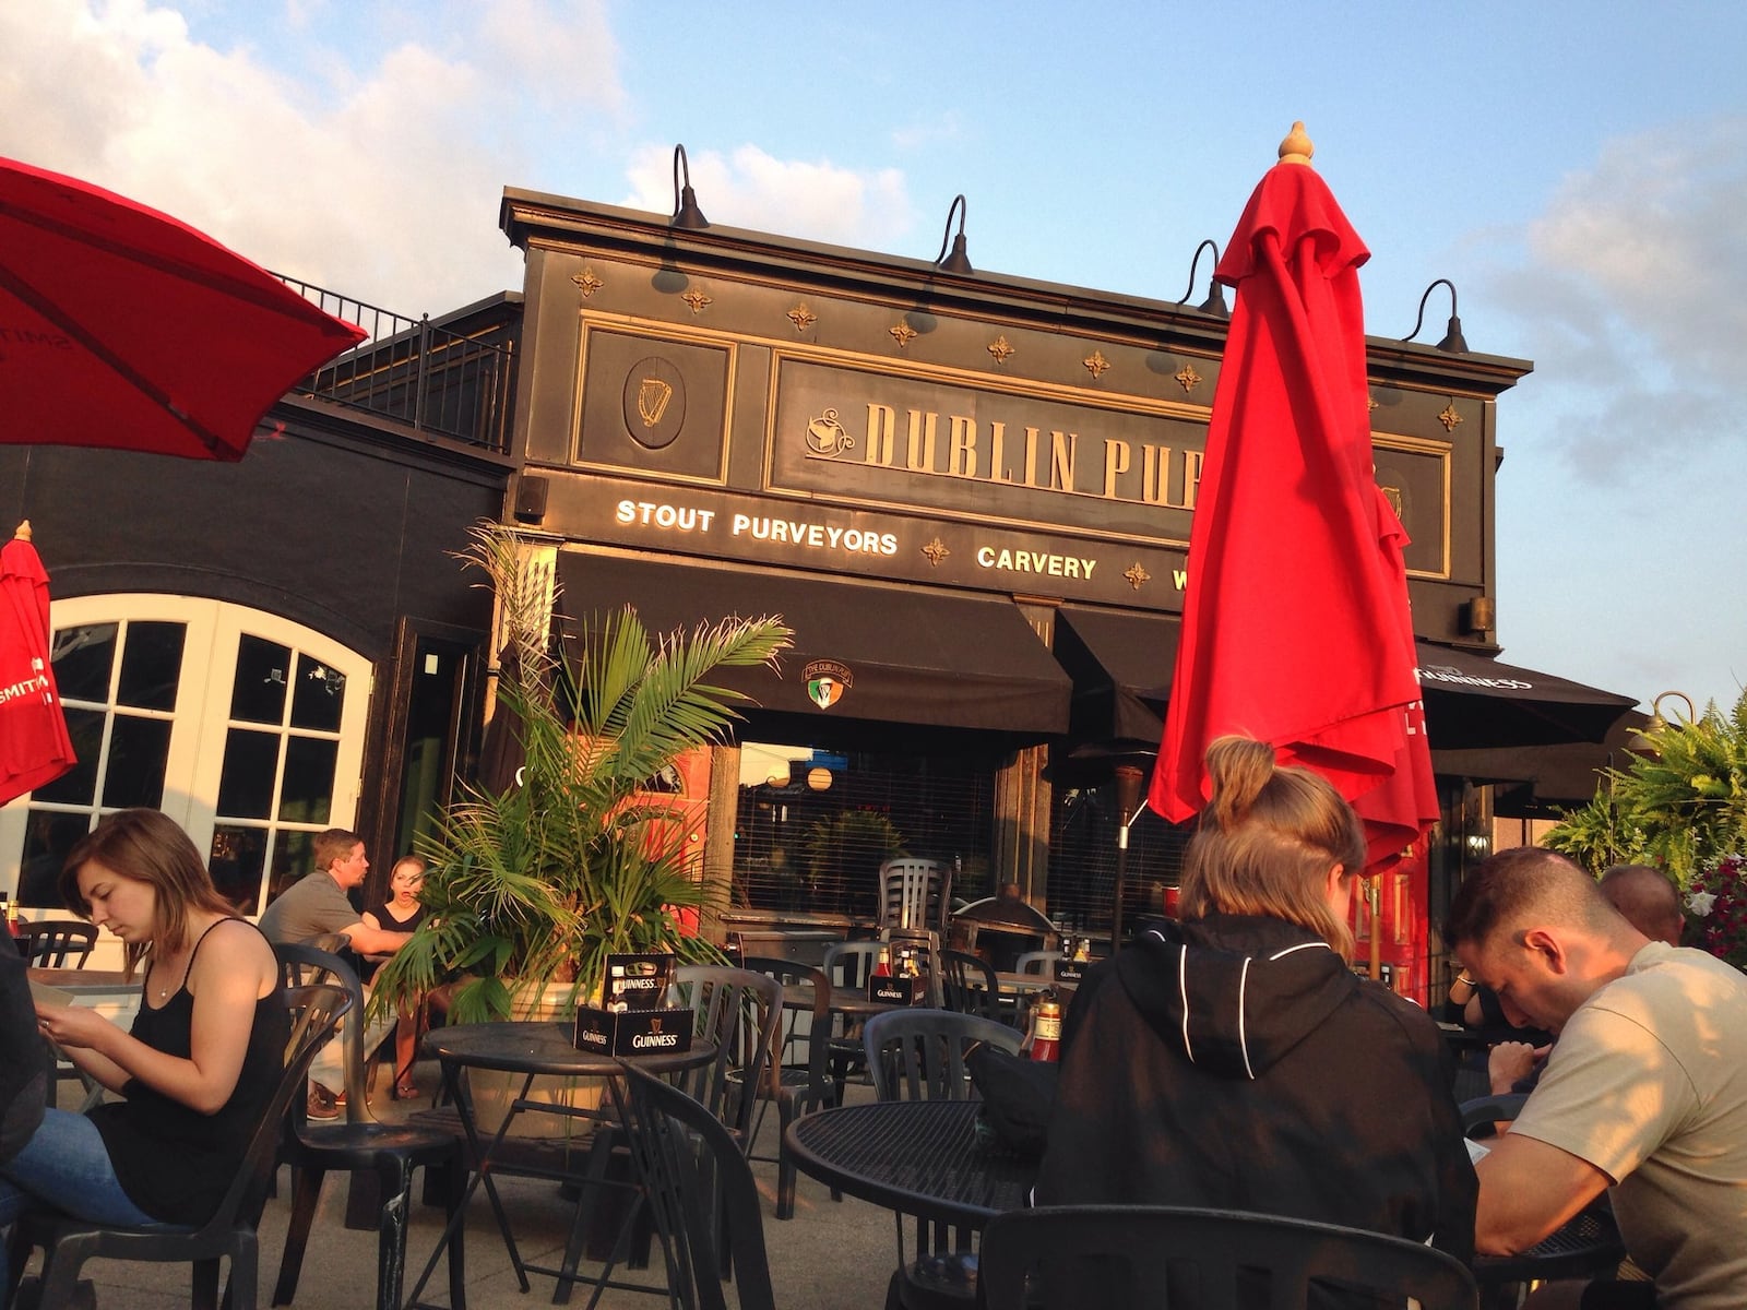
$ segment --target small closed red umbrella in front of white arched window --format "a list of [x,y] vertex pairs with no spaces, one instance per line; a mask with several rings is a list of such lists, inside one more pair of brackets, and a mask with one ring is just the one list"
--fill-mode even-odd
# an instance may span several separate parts
[[0,805],[73,763],[49,664],[49,575],[26,521],[0,547]]

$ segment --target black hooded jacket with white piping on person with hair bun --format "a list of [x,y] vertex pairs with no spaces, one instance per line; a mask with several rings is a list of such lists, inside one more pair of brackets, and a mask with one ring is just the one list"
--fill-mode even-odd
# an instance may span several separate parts
[[1036,1203],[1284,1214],[1466,1261],[1452,1069],[1431,1017],[1307,929],[1165,924],[1074,996]]

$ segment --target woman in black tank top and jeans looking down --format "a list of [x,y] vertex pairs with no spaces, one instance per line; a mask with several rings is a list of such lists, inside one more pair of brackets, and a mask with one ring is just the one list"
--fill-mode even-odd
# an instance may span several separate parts
[[131,1032],[93,1010],[38,1006],[42,1032],[124,1099],[89,1116],[47,1111],[0,1167],[0,1226],[38,1205],[96,1223],[201,1224],[285,1067],[290,1018],[273,947],[157,810],[121,810],[87,833],[61,870],[61,896],[122,940],[128,976],[145,961],[145,989]]

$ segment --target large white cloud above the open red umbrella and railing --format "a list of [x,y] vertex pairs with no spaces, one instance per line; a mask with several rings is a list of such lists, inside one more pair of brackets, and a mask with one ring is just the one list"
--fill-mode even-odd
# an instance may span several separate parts
[[[290,12],[314,40],[323,19]],[[498,231],[508,141],[540,107],[613,115],[624,91],[597,0],[454,5],[363,66],[314,45],[302,80],[253,49],[190,35],[147,0],[0,5],[0,154],[161,208],[243,255],[398,313],[440,313],[521,286]],[[285,51],[276,52],[283,61]],[[529,101],[531,103],[531,101]]]

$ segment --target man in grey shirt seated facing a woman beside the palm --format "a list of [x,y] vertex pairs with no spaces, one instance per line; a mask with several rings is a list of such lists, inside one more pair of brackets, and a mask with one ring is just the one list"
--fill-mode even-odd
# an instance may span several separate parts
[[[344,936],[356,955],[388,955],[400,950],[411,933],[391,933],[383,927],[370,927],[363,915],[353,908],[346,893],[363,882],[370,872],[370,861],[363,854],[363,838],[349,828],[328,828],[316,833],[313,842],[316,866],[290,887],[281,891],[267,912],[260,915],[260,931],[267,941],[313,943],[318,938]],[[356,966],[353,966],[356,968]],[[351,1022],[351,1020],[348,1020]],[[363,1022],[358,1018],[358,1022]],[[372,1050],[388,1036],[393,1020],[377,1020],[363,1031],[363,1048]],[[344,1083],[344,1045],[328,1043],[318,1055],[314,1069],[321,1078]],[[311,1078],[307,1113],[313,1120],[339,1118],[341,1106],[346,1104],[342,1092],[332,1092],[325,1083]]]

